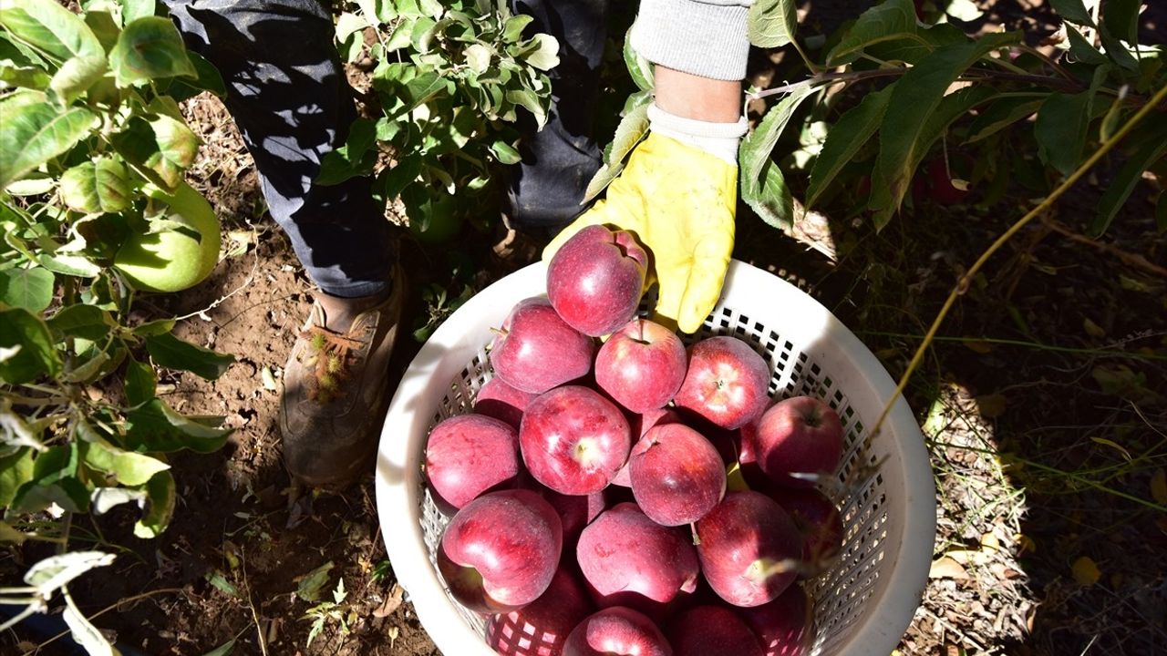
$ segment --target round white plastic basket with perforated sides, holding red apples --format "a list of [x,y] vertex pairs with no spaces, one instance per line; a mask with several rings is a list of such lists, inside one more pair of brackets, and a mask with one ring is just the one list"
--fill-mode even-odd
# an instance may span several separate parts
[[[390,561],[418,617],[446,656],[490,656],[484,620],[446,592],[434,553],[448,517],[421,476],[429,430],[473,405],[492,372],[487,347],[519,300],[545,292],[533,264],[498,280],[457,309],[413,360],[382,431],[377,512]],[[878,435],[871,426],[895,384],[875,356],[825,307],[760,268],[732,261],[721,300],[694,336],[736,335],[769,363],[771,397],[813,395],[839,412],[846,431],[836,498],[845,526],[836,566],[815,580],[815,654],[887,656],[920,605],[936,535],[928,453],[903,399]]]

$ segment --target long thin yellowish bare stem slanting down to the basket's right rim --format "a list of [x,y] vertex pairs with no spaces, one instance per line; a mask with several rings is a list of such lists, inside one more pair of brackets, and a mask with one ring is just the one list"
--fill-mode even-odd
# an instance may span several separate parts
[[908,381],[911,379],[911,375],[916,371],[916,368],[920,367],[921,361],[923,361],[924,354],[928,351],[928,348],[931,346],[932,340],[936,337],[936,333],[937,330],[939,330],[941,324],[948,316],[949,310],[951,310],[952,306],[956,303],[956,299],[960,296],[965,289],[969,288],[969,286],[972,284],[973,278],[985,265],[985,263],[988,261],[988,258],[991,258],[997,251],[999,251],[1001,246],[1004,246],[1009,239],[1012,239],[1013,236],[1016,235],[1022,228],[1025,228],[1030,221],[1048,211],[1049,208],[1053,207],[1054,202],[1057,201],[1057,198],[1060,198],[1063,194],[1065,194],[1065,191],[1069,190],[1069,188],[1072,187],[1074,183],[1077,182],[1083,175],[1085,175],[1088,170],[1093,168],[1093,166],[1098,163],[1098,160],[1100,160],[1106,153],[1113,149],[1114,146],[1118,145],[1118,142],[1121,141],[1123,138],[1125,138],[1140,120],[1142,120],[1148,113],[1151,113],[1153,109],[1155,109],[1165,99],[1167,99],[1167,85],[1156,91],[1154,97],[1151,98],[1151,102],[1142,105],[1142,107],[1140,107],[1139,111],[1135,112],[1134,116],[1132,116],[1130,120],[1127,120],[1126,124],[1124,124],[1123,127],[1118,130],[1118,132],[1116,132],[1110,139],[1103,141],[1102,145],[1098,146],[1098,149],[1095,151],[1093,154],[1091,154],[1085,162],[1083,162],[1074,173],[1071,173],[1069,177],[1062,181],[1062,183],[1058,184],[1057,188],[1049,194],[1049,196],[1046,196],[1046,200],[1043,200],[1035,208],[1029,210],[1025,216],[1018,219],[1016,223],[1011,225],[1008,230],[1006,230],[1000,237],[998,237],[997,240],[993,242],[992,245],[990,245],[988,249],[986,249],[985,252],[983,252],[979,258],[977,258],[977,261],[974,261],[972,266],[970,266],[969,270],[964,273],[964,275],[960,277],[960,280],[957,281],[956,286],[952,288],[952,292],[949,293],[948,299],[944,300],[944,306],[941,307],[941,310],[939,313],[936,314],[936,319],[932,321],[931,327],[928,328],[928,333],[924,334],[923,341],[920,343],[920,347],[916,348],[916,353],[911,357],[911,362],[908,363],[908,368],[903,371],[903,376],[900,377],[900,384],[896,385],[895,391],[892,393],[892,398],[887,400],[887,404],[883,406],[883,411],[880,412],[879,419],[875,420],[875,425],[872,428],[871,434],[874,435],[879,433],[880,427],[883,426],[883,420],[887,419],[887,414],[892,411],[892,406],[895,405],[896,399],[900,397],[900,395],[903,393],[903,390],[907,389]]

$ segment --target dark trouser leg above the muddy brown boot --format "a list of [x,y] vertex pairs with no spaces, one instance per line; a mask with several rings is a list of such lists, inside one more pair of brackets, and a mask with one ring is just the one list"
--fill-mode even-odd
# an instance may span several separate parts
[[344,298],[384,293],[397,261],[369,177],[314,181],[356,118],[319,0],[163,0],[187,46],[215,64],[272,217],[308,275]]

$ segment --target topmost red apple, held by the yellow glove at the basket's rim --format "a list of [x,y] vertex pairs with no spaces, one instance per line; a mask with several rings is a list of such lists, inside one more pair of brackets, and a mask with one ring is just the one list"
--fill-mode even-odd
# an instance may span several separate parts
[[613,333],[636,315],[648,254],[631,233],[584,228],[547,264],[547,298],[585,335]]

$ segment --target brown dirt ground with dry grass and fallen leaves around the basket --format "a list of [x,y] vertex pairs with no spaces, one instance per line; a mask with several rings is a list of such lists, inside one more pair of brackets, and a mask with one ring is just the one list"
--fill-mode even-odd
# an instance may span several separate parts
[[[1040,27],[1039,4],[995,8]],[[205,141],[190,179],[219,211],[229,247],[209,280],[144,312],[182,316],[180,336],[236,355],[214,383],[179,372],[162,383],[179,410],[223,416],[237,431],[216,454],[174,459],[180,504],[161,538],[133,538],[130,514],[78,526],[119,556],[75,596],[141,654],[436,654],[385,560],[394,536],[379,530],[371,475],[338,494],[289,484],[277,390],[310,285],[264,214],[222,105],[200,97],[184,111]],[[1167,651],[1167,514],[1147,505],[1153,486],[1167,486],[1167,236],[1145,184],[1105,239],[1079,239],[1105,186],[1102,170],[992,261],[908,390],[932,455],[938,535],[903,654]],[[897,377],[963,266],[1028,207],[1019,193],[993,208],[921,208],[879,235],[803,226],[813,245],[743,211],[735,257],[798,284]],[[422,289],[463,291],[452,259],[471,264],[474,288],[525,263],[494,258],[496,238],[470,231],[426,250],[406,237],[406,327],[441,314]],[[841,257],[827,257],[834,246]],[[419,347],[406,330],[396,375]],[[328,565],[320,600],[305,601],[298,587]],[[321,606],[341,580],[343,601]],[[0,636],[4,654],[36,644]]]

